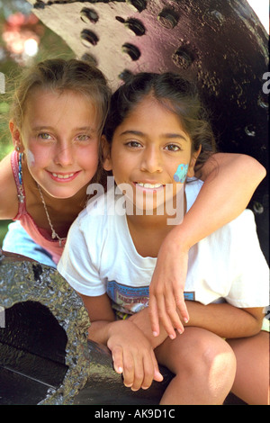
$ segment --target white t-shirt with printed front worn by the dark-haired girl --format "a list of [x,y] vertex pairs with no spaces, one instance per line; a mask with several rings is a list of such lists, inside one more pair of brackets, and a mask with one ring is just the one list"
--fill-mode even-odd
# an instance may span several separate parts
[[[186,184],[187,210],[201,187],[199,180]],[[103,207],[108,195],[97,200],[98,212],[87,207],[71,226],[58,271],[78,293],[107,293],[113,308],[133,313],[148,305],[148,285],[157,258],[139,256],[126,215]],[[226,301],[236,307],[267,306],[269,270],[252,211],[244,211],[190,249],[184,296],[202,304]]]

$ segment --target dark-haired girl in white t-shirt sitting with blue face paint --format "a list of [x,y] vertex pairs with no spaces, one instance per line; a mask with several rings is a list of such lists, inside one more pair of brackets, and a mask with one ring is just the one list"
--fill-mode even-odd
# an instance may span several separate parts
[[[244,211],[190,248],[184,286],[190,320],[184,333],[179,327],[168,336],[161,325],[153,336],[147,306],[157,255],[179,224],[179,210],[186,214],[202,189],[193,176],[214,139],[194,86],[175,74],[139,74],[122,85],[104,134],[103,167],[117,187],[79,215],[58,270],[82,295],[89,338],[109,347],[126,386],[147,389],[162,379],[162,364],[175,377],[161,404],[222,404],[240,380],[242,357],[224,338],[257,342],[268,300],[253,214]],[[256,345],[246,349],[247,373],[258,360],[267,364],[265,336],[263,347]],[[249,392],[257,384],[257,399],[266,402],[266,375],[257,370]]]

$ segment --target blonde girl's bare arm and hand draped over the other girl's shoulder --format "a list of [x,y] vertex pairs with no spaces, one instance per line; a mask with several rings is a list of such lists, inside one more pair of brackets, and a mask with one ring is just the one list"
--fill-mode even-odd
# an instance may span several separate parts
[[244,211],[266,169],[253,157],[217,153],[202,169],[202,189],[183,222],[175,226],[160,247],[157,266],[149,287],[149,316],[153,333],[159,333],[158,320],[166,332],[184,330],[188,320],[184,303],[184,284],[190,247]]

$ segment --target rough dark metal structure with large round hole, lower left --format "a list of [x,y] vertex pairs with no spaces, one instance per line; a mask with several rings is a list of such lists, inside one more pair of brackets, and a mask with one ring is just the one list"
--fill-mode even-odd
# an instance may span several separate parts
[[87,340],[80,297],[58,272],[27,257],[0,257],[0,405],[157,405],[162,383],[132,392],[106,347]]

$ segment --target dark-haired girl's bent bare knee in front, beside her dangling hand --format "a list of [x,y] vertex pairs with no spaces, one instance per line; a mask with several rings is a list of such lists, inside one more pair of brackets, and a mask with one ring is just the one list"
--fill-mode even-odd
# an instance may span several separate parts
[[236,359],[222,338],[205,329],[186,328],[184,334],[155,350],[157,361],[175,374],[160,404],[221,405],[236,373]]

